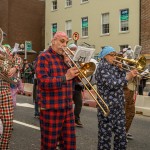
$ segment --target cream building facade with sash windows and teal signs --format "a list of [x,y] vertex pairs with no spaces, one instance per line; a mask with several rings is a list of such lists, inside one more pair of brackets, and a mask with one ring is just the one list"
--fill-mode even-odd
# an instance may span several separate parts
[[117,51],[139,45],[140,0],[46,0],[45,47],[56,31],[79,33],[78,45],[96,49],[110,45]]

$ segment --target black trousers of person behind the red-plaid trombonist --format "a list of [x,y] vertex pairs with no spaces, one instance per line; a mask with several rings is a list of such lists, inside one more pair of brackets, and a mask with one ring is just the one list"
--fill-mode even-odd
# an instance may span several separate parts
[[80,113],[82,109],[82,90],[75,90],[73,93],[73,101],[75,104],[74,107],[74,115],[75,115],[75,121],[80,120]]

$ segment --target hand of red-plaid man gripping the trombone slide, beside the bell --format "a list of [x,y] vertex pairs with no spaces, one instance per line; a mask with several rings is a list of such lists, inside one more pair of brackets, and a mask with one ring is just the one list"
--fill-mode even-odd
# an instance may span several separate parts
[[71,80],[78,75],[79,75],[79,71],[76,67],[72,67],[72,68],[68,69],[67,73],[65,74],[66,80]]

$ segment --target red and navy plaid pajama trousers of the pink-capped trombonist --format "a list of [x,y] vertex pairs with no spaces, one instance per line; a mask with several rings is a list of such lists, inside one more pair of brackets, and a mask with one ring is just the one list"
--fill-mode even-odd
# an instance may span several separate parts
[[[41,150],[76,150],[74,114],[72,108],[40,111]],[[59,135],[59,137],[58,137]]]

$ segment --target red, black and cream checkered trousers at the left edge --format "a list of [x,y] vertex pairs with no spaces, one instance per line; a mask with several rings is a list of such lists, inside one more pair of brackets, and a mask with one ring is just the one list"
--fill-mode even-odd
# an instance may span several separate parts
[[13,126],[13,100],[9,83],[0,79],[0,119],[3,123],[3,134],[0,137],[0,150],[8,150]]

